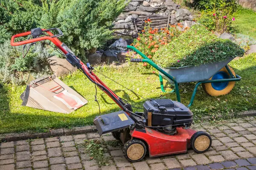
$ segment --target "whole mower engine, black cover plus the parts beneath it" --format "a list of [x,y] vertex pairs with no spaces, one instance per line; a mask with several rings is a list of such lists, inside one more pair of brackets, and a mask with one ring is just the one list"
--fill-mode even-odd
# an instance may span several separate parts
[[193,122],[193,113],[180,102],[171,99],[151,99],[143,104],[147,125],[157,131],[173,135],[177,127],[188,129]]

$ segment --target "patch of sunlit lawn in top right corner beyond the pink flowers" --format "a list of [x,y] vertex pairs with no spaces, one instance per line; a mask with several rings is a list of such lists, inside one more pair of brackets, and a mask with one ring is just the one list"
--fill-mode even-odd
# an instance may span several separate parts
[[256,39],[256,12],[240,7],[234,17],[236,20],[232,22],[231,32],[249,35]]

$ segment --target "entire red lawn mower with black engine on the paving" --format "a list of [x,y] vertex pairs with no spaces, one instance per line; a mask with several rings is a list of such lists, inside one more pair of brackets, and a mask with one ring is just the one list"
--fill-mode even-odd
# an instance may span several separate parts
[[[52,31],[58,34],[52,34]],[[111,132],[115,139],[124,144],[123,153],[128,161],[141,161],[145,154],[150,157],[186,153],[188,148],[203,153],[211,147],[208,133],[190,129],[193,113],[180,102],[171,99],[150,99],[143,104],[143,112],[133,112],[132,105],[117,96],[93,72],[90,63],[86,65],[58,40],[63,33],[58,28],[34,28],[31,31],[12,36],[11,45],[26,45],[49,40],[54,43],[71,65],[81,70],[98,88],[104,91],[122,111],[96,116],[93,123],[99,135]],[[15,42],[17,37],[29,36],[28,40]],[[126,45],[116,45],[126,47]]]

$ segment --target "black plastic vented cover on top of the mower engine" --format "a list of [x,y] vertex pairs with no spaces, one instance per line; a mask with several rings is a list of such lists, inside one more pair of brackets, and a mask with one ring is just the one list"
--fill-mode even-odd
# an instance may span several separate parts
[[[180,102],[170,99],[151,99],[143,104],[144,113],[152,112],[152,126],[177,125],[185,123],[190,126],[193,113]],[[183,126],[183,125],[177,125]]]

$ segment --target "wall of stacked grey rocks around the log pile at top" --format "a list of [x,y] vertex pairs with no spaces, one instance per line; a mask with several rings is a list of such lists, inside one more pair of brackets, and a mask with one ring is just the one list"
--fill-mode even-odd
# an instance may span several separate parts
[[[181,21],[192,21],[189,10],[180,8],[172,0],[131,0],[113,23],[113,29],[123,34],[137,34],[133,19],[142,16],[159,15],[170,16],[170,24],[177,25]],[[166,22],[167,24],[167,22]]]

